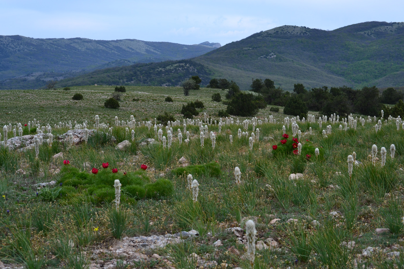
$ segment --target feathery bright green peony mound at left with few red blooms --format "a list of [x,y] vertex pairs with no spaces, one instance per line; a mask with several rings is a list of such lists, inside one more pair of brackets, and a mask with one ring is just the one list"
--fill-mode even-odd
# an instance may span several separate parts
[[61,169],[61,197],[67,199],[90,196],[95,203],[111,202],[115,199],[114,182],[122,184],[122,202],[139,199],[158,199],[173,193],[173,184],[168,179],[158,179],[150,183],[143,170],[128,173],[112,173],[111,169],[101,168],[97,174],[80,172],[77,168],[65,165]]

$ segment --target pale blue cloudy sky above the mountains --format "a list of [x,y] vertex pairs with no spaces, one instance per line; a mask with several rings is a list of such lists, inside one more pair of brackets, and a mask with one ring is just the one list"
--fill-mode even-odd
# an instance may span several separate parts
[[0,0],[0,35],[222,46],[282,25],[404,21],[402,0]]

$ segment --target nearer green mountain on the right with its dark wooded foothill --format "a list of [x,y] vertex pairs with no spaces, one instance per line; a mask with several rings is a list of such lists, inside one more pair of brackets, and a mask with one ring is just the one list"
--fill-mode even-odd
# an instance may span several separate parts
[[199,75],[205,85],[213,77],[231,79],[243,90],[255,78],[272,79],[285,90],[292,90],[294,83],[307,88],[395,87],[404,85],[402,44],[404,23],[371,21],[332,31],[284,25],[186,60],[111,64],[72,74],[61,79],[58,87],[94,83],[174,86],[191,75]]

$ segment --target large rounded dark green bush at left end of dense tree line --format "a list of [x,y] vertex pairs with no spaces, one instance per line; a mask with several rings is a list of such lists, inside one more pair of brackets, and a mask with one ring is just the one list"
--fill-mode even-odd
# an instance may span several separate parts
[[227,113],[240,117],[251,117],[258,113],[258,106],[252,94],[239,92],[227,105]]

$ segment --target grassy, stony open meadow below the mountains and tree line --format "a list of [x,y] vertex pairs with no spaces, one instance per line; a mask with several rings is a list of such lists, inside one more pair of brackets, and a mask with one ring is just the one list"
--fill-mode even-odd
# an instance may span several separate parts
[[[221,90],[202,88],[185,97],[181,88],[126,87],[119,109],[104,108],[113,91],[103,86],[0,91],[1,126],[12,125],[7,138],[21,123],[24,141],[34,141],[25,148],[15,143],[22,138],[13,138],[8,148],[0,145],[0,261],[6,266],[251,268],[250,245],[255,246],[252,266],[260,269],[403,268],[401,119],[396,125],[397,119],[384,115],[377,131],[380,118],[373,115],[370,121],[362,115],[363,126],[361,115],[353,115],[346,128],[342,116],[320,127],[322,115],[309,112],[315,120],[305,122],[288,115],[285,123],[282,108],[272,113],[268,106],[257,119],[223,118],[219,126],[217,111],[226,106],[210,99],[217,92],[224,99]],[[83,100],[71,99],[76,92]],[[165,96],[174,102],[165,102]],[[181,106],[197,99],[205,108],[184,130]],[[163,111],[180,120],[171,125],[172,144],[160,143],[154,130],[154,118]],[[203,123],[201,146],[196,122],[204,121],[204,113],[213,123]],[[51,145],[47,128],[38,134],[43,143],[36,142],[34,118],[35,124],[50,125]],[[80,131],[74,130],[75,121]],[[28,123],[31,129],[24,126]],[[239,137],[239,129],[248,133]],[[64,135],[70,130],[74,138]],[[162,136],[169,140],[166,126]],[[301,144],[296,154],[292,138],[299,140],[297,148]],[[130,144],[123,145],[125,140]],[[63,157],[54,157],[59,152]],[[350,160],[353,152],[357,162]],[[197,182],[188,181],[188,174]],[[116,179],[122,184],[119,203]],[[257,230],[251,244],[248,220]]]

